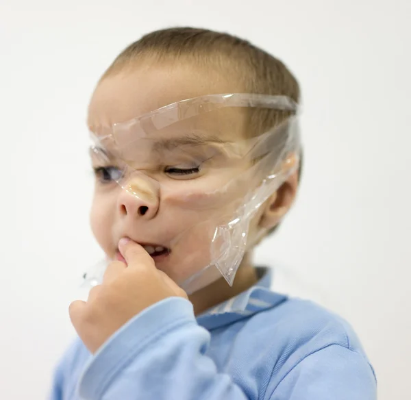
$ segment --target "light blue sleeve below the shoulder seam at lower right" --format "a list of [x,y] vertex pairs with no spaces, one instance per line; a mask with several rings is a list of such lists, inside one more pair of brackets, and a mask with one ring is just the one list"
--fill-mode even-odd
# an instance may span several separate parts
[[376,400],[373,369],[357,351],[329,345],[304,358],[267,397],[270,400]]

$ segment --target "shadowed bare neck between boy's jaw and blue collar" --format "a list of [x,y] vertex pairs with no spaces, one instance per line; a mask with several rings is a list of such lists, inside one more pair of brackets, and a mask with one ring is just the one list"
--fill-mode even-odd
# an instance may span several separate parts
[[194,306],[195,315],[198,315],[214,307],[214,305],[223,303],[223,301],[244,292],[257,282],[256,270],[253,268],[249,256],[245,255],[236,273],[233,286],[229,286],[225,279],[221,277],[216,282],[192,293],[188,299]]

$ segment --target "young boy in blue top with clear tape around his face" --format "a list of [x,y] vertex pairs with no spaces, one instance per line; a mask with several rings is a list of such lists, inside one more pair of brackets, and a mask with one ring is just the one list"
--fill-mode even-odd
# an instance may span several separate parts
[[116,58],[88,113],[112,261],[70,306],[51,399],[376,399],[351,327],[252,265],[297,192],[298,101],[282,62],[227,34],[165,29]]

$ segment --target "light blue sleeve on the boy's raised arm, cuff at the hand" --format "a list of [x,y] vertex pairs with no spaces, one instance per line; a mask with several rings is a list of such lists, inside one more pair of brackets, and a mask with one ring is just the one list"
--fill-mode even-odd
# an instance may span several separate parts
[[79,380],[86,400],[247,400],[206,355],[210,334],[192,304],[172,297],[132,318],[97,351]]

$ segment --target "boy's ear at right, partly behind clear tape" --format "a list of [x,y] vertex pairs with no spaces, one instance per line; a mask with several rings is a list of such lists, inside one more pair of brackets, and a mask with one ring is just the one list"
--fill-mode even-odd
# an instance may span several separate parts
[[266,230],[272,229],[287,214],[297,195],[298,177],[298,171],[292,173],[282,186],[262,205],[263,210],[258,227]]

